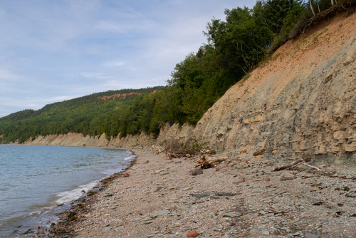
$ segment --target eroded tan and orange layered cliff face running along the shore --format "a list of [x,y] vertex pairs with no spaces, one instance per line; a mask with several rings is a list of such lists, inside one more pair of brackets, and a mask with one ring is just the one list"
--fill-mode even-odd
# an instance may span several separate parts
[[356,162],[356,26],[344,12],[278,48],[231,87],[194,126],[167,125],[149,135],[39,137],[31,145],[125,147],[201,139],[231,157],[258,155],[314,162]]

